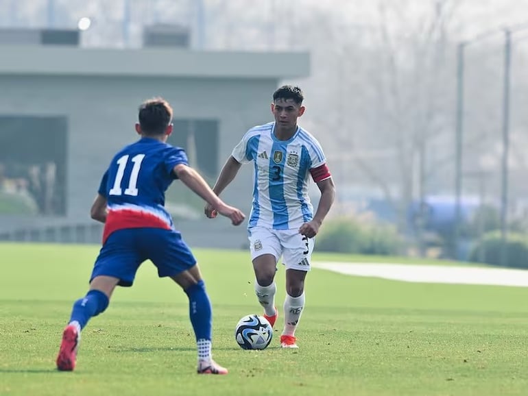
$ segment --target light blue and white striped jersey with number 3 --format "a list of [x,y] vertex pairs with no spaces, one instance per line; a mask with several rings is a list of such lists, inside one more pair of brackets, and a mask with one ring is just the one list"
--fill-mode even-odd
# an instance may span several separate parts
[[289,140],[278,140],[275,123],[250,129],[231,156],[241,164],[254,162],[253,203],[248,228],[298,228],[313,219],[309,177],[331,177],[319,142],[301,127]]

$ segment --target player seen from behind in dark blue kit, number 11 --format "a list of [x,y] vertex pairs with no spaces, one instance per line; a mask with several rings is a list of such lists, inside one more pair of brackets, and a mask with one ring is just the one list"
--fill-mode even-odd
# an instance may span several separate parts
[[141,138],[121,149],[101,180],[91,216],[104,223],[103,246],[90,280],[88,293],[75,301],[69,324],[62,334],[57,368],[75,368],[81,330],[101,314],[116,286],[132,286],[136,271],[152,260],[160,277],[170,277],[189,297],[189,314],[196,336],[200,374],[226,374],[211,358],[211,302],[193,253],[176,231],[165,210],[165,191],[181,180],[233,225],[245,216],[226,205],[202,176],[189,167],[183,149],[165,143],[172,133],[172,109],[154,98],[139,108],[136,132]]

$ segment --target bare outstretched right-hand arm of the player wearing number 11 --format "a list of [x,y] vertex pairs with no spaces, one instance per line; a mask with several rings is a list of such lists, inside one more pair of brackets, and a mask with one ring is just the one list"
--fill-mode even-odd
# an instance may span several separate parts
[[204,178],[197,173],[194,169],[186,164],[178,164],[173,169],[178,179],[180,179],[187,187],[189,187],[193,193],[204,199],[211,207],[214,208],[219,214],[229,217],[234,225],[241,224],[245,215],[232,206],[226,205],[218,195],[216,195],[211,187],[207,184]]

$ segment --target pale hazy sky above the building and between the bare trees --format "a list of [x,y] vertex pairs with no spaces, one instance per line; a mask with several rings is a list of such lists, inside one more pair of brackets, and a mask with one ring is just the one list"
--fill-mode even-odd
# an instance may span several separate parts
[[[130,5],[128,9],[125,8],[127,3]],[[444,71],[453,77],[446,80],[444,89],[446,106],[443,110],[447,116],[454,114],[454,43],[504,26],[521,23],[527,23],[528,26],[528,0],[203,0],[203,3],[206,11],[204,18],[200,19],[197,17],[200,0],[0,0],[0,26],[45,27],[49,23],[49,5],[53,4],[55,27],[75,27],[82,16],[93,19],[91,28],[82,37],[82,44],[86,47],[140,47],[143,25],[153,23],[190,24],[195,39],[199,21],[202,20],[205,21],[202,25],[206,37],[205,49],[307,50],[312,54],[311,75],[300,84],[308,94],[310,112],[304,116],[303,123],[313,126],[317,131],[335,133],[334,123],[336,120],[341,122],[340,117],[343,116],[335,106],[328,108],[328,103],[335,100],[336,92],[342,91],[343,97],[347,98],[348,114],[355,114],[344,117],[345,120],[353,121],[347,121],[350,124],[346,128],[347,136],[352,136],[352,132],[359,136],[361,129],[364,129],[365,136],[379,132],[379,128],[369,126],[374,125],[380,117],[375,108],[376,102],[368,102],[365,92],[366,88],[372,90],[373,83],[381,81],[383,77],[383,68],[380,69],[379,62],[383,60],[383,56],[376,58],[372,55],[374,50],[379,54],[387,53],[387,46],[383,47],[383,42],[379,39],[382,20],[385,21],[390,40],[394,41],[391,44],[395,58],[403,58],[398,66],[401,75],[407,79],[396,82],[402,85],[402,95],[416,99],[413,98],[414,94],[423,96],[424,92],[414,92],[409,88],[414,75],[406,75],[406,68],[423,69],[423,65],[416,66],[423,59],[416,51],[422,38],[420,34],[427,29],[427,24],[431,25],[435,10],[440,6],[444,6],[444,10],[450,10],[451,16],[446,17],[448,22],[444,32],[448,42],[448,55],[443,66]],[[129,25],[123,24],[123,16],[128,18]],[[524,95],[525,88],[523,84],[516,84],[524,79],[525,67],[522,62],[523,59],[528,59],[528,40],[518,40],[523,35],[528,38],[528,29],[516,37],[512,77],[512,130],[518,129],[518,136],[525,135],[525,121],[519,115],[525,114],[525,101],[521,96]],[[366,42],[371,40],[372,48],[368,45],[359,48],[363,39]],[[489,111],[475,106],[480,105],[484,95],[490,95],[488,102],[498,114],[492,118],[493,133],[500,126],[497,103],[501,103],[499,84],[502,61],[499,46],[502,43],[499,40],[501,36],[497,35],[496,42],[486,41],[479,48],[468,51],[467,62],[468,114],[486,114],[489,118]],[[484,58],[485,62],[482,62],[482,53],[488,57]],[[523,58],[520,55],[525,56]],[[400,58],[396,59],[397,62]],[[486,67],[490,69],[490,73],[487,73]],[[348,73],[349,71],[353,73]],[[437,71],[431,73],[435,74]],[[339,75],[343,78],[339,78]],[[434,82],[436,78],[437,75],[433,75],[430,79]],[[472,83],[472,78],[475,84]],[[485,90],[481,84],[483,79],[487,81]],[[494,82],[494,85],[490,82]],[[357,95],[344,95],[350,92]],[[420,100],[416,101],[420,103]],[[365,103],[374,110],[368,112],[369,106]],[[407,122],[412,119],[413,114],[398,116]],[[472,119],[468,118],[468,130],[475,124],[471,122]],[[445,123],[452,126],[449,120]],[[474,129],[480,129],[479,125]],[[327,138],[327,135],[330,136],[322,134],[320,139],[328,149],[334,151],[332,155],[337,158],[341,155],[338,151],[348,146],[332,147],[333,139]],[[374,143],[380,146],[377,140]],[[385,152],[387,147],[376,149]],[[346,152],[349,154],[350,150],[347,149]],[[496,160],[497,156],[494,158]]]

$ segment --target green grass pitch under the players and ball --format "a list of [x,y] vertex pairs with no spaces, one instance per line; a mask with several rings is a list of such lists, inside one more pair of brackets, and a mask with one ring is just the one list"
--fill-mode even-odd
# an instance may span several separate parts
[[[195,374],[187,297],[149,263],[134,287],[119,288],[110,308],[88,324],[77,369],[61,373],[54,359],[62,328],[86,292],[97,251],[0,244],[0,395],[528,393],[526,288],[411,284],[314,269],[300,349],[278,348],[280,317],[268,349],[243,351],[234,326],[261,312],[245,251],[195,251],[213,301],[215,359],[229,375]],[[282,268],[277,281],[281,305]]]

